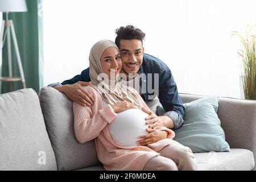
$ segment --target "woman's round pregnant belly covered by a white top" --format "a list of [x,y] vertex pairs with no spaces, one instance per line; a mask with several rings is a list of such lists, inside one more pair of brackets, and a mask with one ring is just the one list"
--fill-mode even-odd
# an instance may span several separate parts
[[138,137],[148,134],[146,120],[148,114],[141,109],[129,109],[117,114],[108,125],[112,140],[124,146],[137,146]]

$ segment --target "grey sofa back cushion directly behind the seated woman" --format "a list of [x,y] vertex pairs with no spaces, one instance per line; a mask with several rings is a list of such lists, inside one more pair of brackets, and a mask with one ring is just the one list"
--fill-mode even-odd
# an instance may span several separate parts
[[39,99],[58,170],[73,170],[100,164],[94,140],[77,142],[74,131],[73,102],[49,86],[40,90]]

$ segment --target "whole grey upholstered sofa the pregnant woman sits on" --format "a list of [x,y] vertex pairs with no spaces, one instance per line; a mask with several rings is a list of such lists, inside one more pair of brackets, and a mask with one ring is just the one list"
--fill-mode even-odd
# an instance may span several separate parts
[[[184,103],[203,96],[180,94]],[[157,104],[148,105],[155,111]],[[256,154],[256,101],[220,98],[218,117],[230,152],[196,153],[201,170],[251,170]],[[93,140],[73,131],[72,101],[51,87],[0,95],[0,170],[104,170]]]

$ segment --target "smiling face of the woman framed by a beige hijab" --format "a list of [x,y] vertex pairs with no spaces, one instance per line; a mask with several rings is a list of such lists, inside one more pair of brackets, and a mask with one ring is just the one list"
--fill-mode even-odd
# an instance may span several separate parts
[[109,47],[105,49],[101,55],[101,67],[110,80],[115,80],[118,77],[122,68],[122,59],[117,48]]

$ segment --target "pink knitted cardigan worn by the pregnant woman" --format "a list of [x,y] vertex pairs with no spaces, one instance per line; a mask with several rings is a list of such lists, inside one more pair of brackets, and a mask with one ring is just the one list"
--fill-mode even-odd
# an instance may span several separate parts
[[[91,86],[83,88],[94,98],[94,104],[90,107],[82,107],[77,102],[73,102],[75,135],[80,143],[94,139],[98,159],[104,164],[106,170],[142,171],[148,160],[160,155],[156,151],[172,142],[175,136],[174,131],[162,127],[160,130],[166,130],[168,133],[166,139],[151,143],[147,147],[120,146],[112,140],[107,127],[115,119],[117,113],[114,113],[110,105],[102,108],[102,98]],[[146,109],[149,109],[142,98],[141,102]]]

